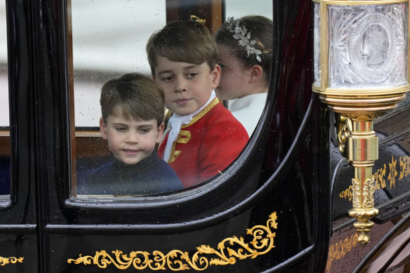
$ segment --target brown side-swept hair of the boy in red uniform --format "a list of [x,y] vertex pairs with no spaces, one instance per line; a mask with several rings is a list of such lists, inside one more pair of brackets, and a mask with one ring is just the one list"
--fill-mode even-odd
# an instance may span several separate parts
[[155,74],[157,56],[173,62],[201,65],[207,62],[211,70],[218,62],[216,43],[209,30],[199,22],[175,21],[154,32],[148,39],[148,62]]

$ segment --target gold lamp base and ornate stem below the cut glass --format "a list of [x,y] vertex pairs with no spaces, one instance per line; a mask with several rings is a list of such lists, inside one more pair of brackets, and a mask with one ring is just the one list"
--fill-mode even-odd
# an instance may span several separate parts
[[359,233],[358,241],[362,246],[370,241],[368,233],[374,223],[371,218],[378,214],[374,207],[374,180],[372,167],[378,159],[378,137],[373,131],[373,119],[397,107],[397,103],[406,98],[409,86],[394,91],[360,91],[352,94],[335,92],[331,89],[322,91],[313,86],[319,98],[329,109],[348,119],[348,128],[343,130],[345,140],[344,151],[351,166],[355,168],[352,179],[352,209],[349,215],[356,218],[353,224]]

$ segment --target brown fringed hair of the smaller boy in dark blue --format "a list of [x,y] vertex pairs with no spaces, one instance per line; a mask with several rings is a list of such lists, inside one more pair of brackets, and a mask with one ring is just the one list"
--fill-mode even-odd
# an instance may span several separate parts
[[[164,91],[155,81],[139,73],[124,74],[110,79],[101,88],[102,120],[107,124],[108,116],[120,114],[137,120],[156,119],[160,126],[164,119],[164,101]],[[117,106],[120,113],[114,112]]]

